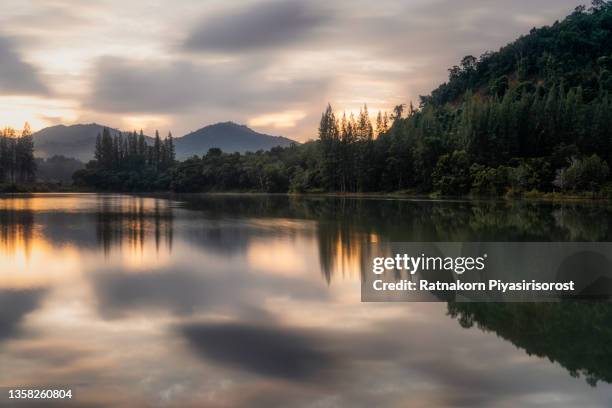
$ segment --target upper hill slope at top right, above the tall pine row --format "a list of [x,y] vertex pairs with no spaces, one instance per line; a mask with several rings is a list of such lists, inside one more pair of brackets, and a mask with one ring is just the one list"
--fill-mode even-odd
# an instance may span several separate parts
[[612,3],[593,1],[553,25],[533,28],[497,52],[466,56],[449,69],[449,81],[421,97],[440,106],[466,92],[502,96],[513,85],[581,87],[586,100],[612,92]]

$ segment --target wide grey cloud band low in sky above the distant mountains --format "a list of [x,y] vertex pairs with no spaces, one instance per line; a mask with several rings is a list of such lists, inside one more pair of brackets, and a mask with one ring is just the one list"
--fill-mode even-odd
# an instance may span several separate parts
[[98,61],[88,105],[105,112],[170,113],[194,109],[245,109],[305,103],[328,80],[274,80],[252,65],[129,61],[105,57]]

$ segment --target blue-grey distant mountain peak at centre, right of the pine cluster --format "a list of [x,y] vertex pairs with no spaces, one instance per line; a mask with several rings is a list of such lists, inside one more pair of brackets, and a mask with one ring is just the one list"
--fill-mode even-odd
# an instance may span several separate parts
[[177,159],[185,159],[194,154],[202,155],[213,147],[224,152],[244,153],[247,151],[270,150],[276,146],[290,146],[296,143],[282,136],[270,136],[238,125],[234,122],[216,123],[175,139]]

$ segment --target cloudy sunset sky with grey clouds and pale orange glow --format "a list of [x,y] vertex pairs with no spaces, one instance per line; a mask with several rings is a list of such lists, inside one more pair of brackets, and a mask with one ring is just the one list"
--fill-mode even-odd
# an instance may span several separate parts
[[96,122],[182,136],[234,121],[316,137],[371,115],[576,0],[2,0],[0,126]]

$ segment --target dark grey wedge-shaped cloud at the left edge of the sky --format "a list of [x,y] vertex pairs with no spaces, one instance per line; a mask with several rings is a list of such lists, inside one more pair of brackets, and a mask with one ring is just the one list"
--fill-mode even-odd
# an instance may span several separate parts
[[12,39],[0,37],[0,94],[47,94],[38,72],[21,58],[15,45]]

